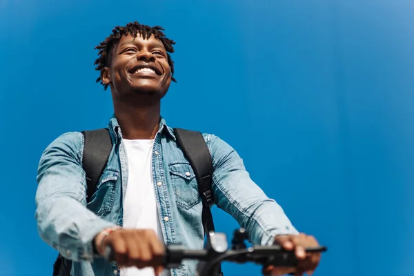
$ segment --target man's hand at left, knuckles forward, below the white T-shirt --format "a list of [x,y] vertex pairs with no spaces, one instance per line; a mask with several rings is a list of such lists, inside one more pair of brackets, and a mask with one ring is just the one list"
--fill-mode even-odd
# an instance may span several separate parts
[[[100,242],[99,242],[100,241]],[[153,230],[119,229],[106,237],[95,237],[97,251],[103,256],[106,247],[113,250],[115,262],[120,267],[153,267],[155,275],[163,270],[164,244]]]

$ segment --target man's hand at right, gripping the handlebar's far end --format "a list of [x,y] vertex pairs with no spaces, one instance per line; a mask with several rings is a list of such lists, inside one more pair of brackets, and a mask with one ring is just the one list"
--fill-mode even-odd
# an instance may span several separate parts
[[284,268],[268,266],[264,268],[264,275],[286,275],[295,273],[296,276],[302,276],[304,273],[311,275],[321,259],[321,253],[306,253],[305,248],[319,246],[313,236],[303,233],[299,235],[281,235],[275,237],[275,244],[279,244],[286,250],[295,250],[295,255],[299,263],[295,268]]

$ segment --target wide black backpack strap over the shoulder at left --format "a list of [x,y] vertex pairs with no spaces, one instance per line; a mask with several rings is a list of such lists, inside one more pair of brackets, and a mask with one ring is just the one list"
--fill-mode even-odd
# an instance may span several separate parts
[[95,193],[99,178],[108,163],[112,150],[112,139],[107,128],[82,131],[85,137],[83,148],[83,170],[86,172],[86,184],[88,184],[88,197]]

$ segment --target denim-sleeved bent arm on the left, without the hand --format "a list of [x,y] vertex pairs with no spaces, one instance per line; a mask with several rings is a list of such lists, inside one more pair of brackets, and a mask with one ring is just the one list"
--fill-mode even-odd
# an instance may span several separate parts
[[115,226],[86,208],[83,143],[80,132],[61,135],[43,152],[37,172],[39,235],[63,257],[74,261],[91,261],[95,235]]

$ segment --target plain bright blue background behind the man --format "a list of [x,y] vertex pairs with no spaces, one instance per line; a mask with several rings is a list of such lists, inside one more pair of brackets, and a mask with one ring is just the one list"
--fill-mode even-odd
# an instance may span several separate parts
[[[168,124],[236,148],[329,246],[316,275],[414,275],[413,12],[408,0],[0,0],[0,275],[51,275],[56,252],[34,220],[39,157],[63,132],[106,126],[94,47],[134,20],[177,41]],[[218,230],[237,227],[214,215]]]

